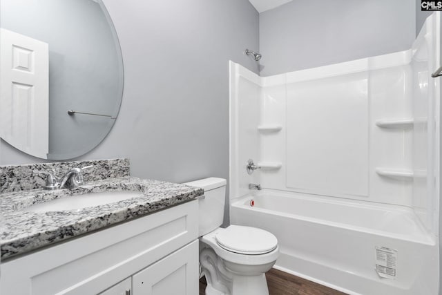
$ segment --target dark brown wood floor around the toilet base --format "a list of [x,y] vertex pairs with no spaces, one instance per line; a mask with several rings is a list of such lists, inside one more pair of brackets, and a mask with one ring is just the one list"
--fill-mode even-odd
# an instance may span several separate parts
[[[270,295],[346,295],[343,292],[313,283],[304,278],[293,276],[272,268],[266,274]],[[205,278],[200,280],[200,295],[204,295]],[[244,294],[253,295],[253,294]]]

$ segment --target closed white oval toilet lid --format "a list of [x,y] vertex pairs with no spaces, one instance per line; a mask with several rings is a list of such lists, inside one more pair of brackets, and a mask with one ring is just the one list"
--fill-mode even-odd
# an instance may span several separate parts
[[276,236],[256,227],[231,225],[220,231],[215,238],[220,247],[239,254],[266,254],[278,246]]

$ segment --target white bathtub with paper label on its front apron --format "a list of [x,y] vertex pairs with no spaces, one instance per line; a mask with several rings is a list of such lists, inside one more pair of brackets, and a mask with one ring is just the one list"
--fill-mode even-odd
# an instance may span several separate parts
[[[262,190],[231,200],[230,215],[278,238],[282,271],[347,294],[438,294],[436,237],[410,208]],[[376,272],[385,248],[396,259],[387,276]]]

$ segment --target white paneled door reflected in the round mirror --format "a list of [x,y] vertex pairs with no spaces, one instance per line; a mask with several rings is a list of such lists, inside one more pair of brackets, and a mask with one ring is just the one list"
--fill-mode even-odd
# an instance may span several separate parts
[[0,28],[0,137],[30,155],[49,146],[48,44]]

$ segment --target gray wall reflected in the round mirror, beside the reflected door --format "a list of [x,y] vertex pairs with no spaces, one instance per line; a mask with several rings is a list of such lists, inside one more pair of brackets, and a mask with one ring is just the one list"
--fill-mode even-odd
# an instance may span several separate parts
[[87,115],[70,117],[67,111],[109,115],[118,111],[121,57],[99,4],[90,0],[1,0],[0,25],[49,44],[49,158],[77,157],[96,146],[113,121]]

